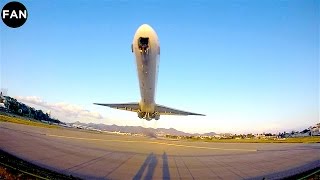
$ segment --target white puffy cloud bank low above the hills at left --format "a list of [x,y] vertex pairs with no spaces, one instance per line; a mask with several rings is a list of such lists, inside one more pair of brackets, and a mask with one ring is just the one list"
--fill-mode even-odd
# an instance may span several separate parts
[[44,107],[52,112],[56,112],[59,114],[62,113],[67,117],[79,119],[103,119],[100,113],[86,110],[79,105],[69,104],[65,102],[47,103],[37,96],[17,96],[15,98],[25,103],[31,103]]

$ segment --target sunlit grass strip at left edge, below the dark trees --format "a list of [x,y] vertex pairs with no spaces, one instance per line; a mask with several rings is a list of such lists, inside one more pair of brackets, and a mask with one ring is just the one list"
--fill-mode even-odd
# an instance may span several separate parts
[[17,117],[14,115],[9,116],[9,115],[5,115],[5,114],[0,114],[0,122],[11,122],[11,123],[25,124],[25,125],[30,125],[30,126],[46,127],[46,128],[59,128],[59,126],[57,126],[57,125],[45,124],[40,121],[24,119],[22,117]]

